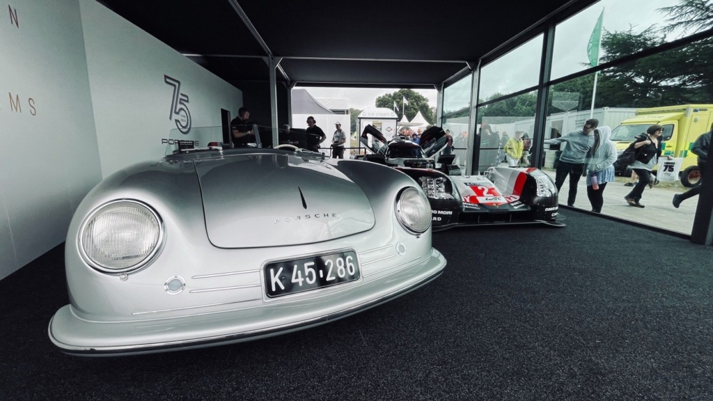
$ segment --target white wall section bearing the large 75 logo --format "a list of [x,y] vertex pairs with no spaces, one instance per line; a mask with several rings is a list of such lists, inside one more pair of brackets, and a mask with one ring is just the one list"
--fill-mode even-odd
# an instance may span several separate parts
[[[237,115],[242,92],[120,18],[96,0],[80,0],[101,170],[106,177],[131,161],[163,156],[173,87],[188,96],[191,128],[220,126],[220,108]],[[180,29],[180,27],[176,27]]]

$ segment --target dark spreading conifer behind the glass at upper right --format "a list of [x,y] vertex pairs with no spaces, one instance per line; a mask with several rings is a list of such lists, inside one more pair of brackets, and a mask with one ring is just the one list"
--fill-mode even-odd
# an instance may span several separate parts
[[[658,9],[665,26],[650,26],[635,34],[605,31],[603,62],[615,61],[667,43],[674,31],[692,34],[713,26],[713,5],[707,0],[682,0]],[[681,46],[631,63],[607,68],[597,80],[595,107],[655,107],[680,103],[710,103],[713,100],[713,39]],[[588,67],[588,63],[583,63]],[[594,74],[553,86],[553,91],[578,93],[580,110],[591,107]],[[553,112],[553,111],[550,111]]]

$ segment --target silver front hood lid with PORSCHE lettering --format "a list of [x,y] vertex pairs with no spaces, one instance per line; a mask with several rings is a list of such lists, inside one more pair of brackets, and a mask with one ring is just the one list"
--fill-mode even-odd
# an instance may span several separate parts
[[286,154],[197,161],[210,242],[220,248],[316,243],[369,230],[374,210],[332,165]]

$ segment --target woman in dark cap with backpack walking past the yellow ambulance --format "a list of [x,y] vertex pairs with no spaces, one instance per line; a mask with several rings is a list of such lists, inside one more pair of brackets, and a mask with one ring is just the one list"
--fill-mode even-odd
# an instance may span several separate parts
[[641,196],[644,193],[644,188],[655,180],[652,178],[651,171],[661,156],[661,135],[664,128],[658,124],[650,126],[646,130],[646,134],[641,134],[636,137],[634,149],[636,151],[636,159],[629,166],[639,176],[639,182],[634,186],[631,192],[624,197],[624,200],[629,205],[637,208],[643,208],[640,203]]

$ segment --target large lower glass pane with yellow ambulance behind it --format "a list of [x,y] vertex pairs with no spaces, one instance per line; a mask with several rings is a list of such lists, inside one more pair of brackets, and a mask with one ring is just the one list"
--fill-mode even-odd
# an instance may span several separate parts
[[[663,157],[653,166],[655,178],[652,185],[645,186],[640,200],[646,208],[632,207],[624,200],[630,196],[633,188],[630,185],[638,178],[631,177],[630,169],[615,166],[614,181],[607,183],[602,193],[602,213],[691,233],[697,198],[675,209],[677,218],[671,221],[661,221],[652,212],[674,210],[674,194],[687,191],[688,186],[697,183],[696,156],[689,149],[692,142],[713,125],[713,64],[707,61],[712,54],[713,38],[708,38],[607,68],[597,76],[596,91],[593,90],[594,74],[549,88],[545,138],[577,132],[593,117],[599,120],[600,128],[612,129],[612,140],[620,153],[635,136],[645,133],[653,124],[664,128]],[[558,157],[567,145],[559,146],[545,144],[540,161],[543,170],[553,178],[559,165]],[[570,177],[562,184],[560,203],[563,204],[569,198]],[[576,188],[575,207],[591,210],[586,178],[580,178]]]

